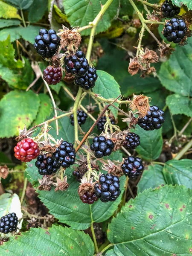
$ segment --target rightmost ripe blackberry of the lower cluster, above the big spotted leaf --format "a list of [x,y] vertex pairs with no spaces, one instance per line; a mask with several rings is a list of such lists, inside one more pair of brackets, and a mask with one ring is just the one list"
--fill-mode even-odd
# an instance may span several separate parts
[[139,176],[144,169],[142,160],[139,157],[133,156],[125,159],[121,168],[125,176],[128,176],[130,179]]

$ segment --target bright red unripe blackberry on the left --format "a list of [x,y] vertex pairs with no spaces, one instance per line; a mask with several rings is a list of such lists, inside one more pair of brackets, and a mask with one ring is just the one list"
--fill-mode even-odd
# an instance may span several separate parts
[[17,143],[14,148],[15,157],[21,162],[30,162],[38,157],[39,146],[32,139],[24,139]]

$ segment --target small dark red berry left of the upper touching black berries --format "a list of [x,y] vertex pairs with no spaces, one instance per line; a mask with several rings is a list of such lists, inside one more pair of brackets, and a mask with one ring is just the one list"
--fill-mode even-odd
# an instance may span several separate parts
[[61,67],[53,67],[48,66],[44,70],[44,80],[47,82],[47,84],[57,84],[61,82],[62,79],[62,71]]

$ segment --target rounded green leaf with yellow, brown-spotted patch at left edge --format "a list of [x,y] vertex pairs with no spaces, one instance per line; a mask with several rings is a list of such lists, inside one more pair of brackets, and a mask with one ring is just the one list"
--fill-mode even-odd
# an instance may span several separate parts
[[29,127],[39,106],[39,96],[32,91],[14,90],[7,93],[0,101],[0,137],[13,137],[19,134],[19,129],[23,129],[25,124]]

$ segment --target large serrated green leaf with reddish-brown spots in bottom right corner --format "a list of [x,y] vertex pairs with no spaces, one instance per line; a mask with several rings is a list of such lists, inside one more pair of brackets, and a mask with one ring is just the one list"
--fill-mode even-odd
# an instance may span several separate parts
[[108,240],[114,244],[114,253],[190,255],[191,200],[192,190],[171,185],[154,191],[147,189],[131,199],[108,226]]

